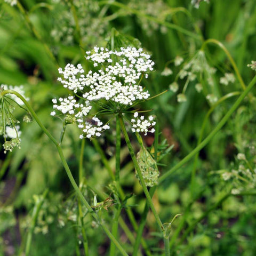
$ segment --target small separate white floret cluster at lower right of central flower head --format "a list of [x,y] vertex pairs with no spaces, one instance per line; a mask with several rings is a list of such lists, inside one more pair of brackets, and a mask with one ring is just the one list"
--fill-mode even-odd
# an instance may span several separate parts
[[135,119],[131,119],[132,132],[145,132],[145,135],[147,135],[147,132],[155,132],[154,128],[150,129],[150,127],[156,124],[153,116],[149,116],[148,119],[145,119],[144,116],[139,117],[138,112],[135,112],[133,116]]

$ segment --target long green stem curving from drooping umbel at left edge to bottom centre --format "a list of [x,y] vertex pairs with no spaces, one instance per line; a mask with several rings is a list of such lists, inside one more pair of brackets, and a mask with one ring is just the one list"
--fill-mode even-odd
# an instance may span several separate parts
[[51,133],[46,129],[46,127],[43,125],[43,123],[40,121],[40,119],[38,118],[38,116],[36,115],[35,111],[33,108],[31,108],[31,106],[29,105],[29,103],[27,102],[27,100],[18,92],[15,92],[13,90],[4,90],[0,93],[0,98],[4,97],[5,94],[7,93],[11,93],[16,95],[18,98],[20,98],[23,103],[25,104],[25,106],[27,107],[27,109],[29,110],[30,114],[33,116],[33,118],[35,119],[35,121],[37,122],[37,124],[41,127],[41,129],[44,131],[44,133],[47,135],[47,137],[49,137],[49,139],[54,143],[54,145],[56,146],[62,165],[68,175],[69,181],[71,183],[71,185],[73,186],[73,188],[75,189],[77,196],[81,199],[81,202],[85,205],[87,211],[89,213],[92,214],[92,217],[101,223],[101,227],[102,229],[105,231],[106,235],[109,237],[109,239],[111,241],[113,241],[116,245],[116,247],[118,248],[118,250],[122,253],[122,255],[127,256],[128,254],[124,251],[123,247],[121,246],[121,244],[118,243],[118,241],[116,240],[116,238],[111,234],[111,232],[108,230],[107,226],[105,223],[103,223],[102,221],[99,220],[98,215],[93,211],[92,207],[90,206],[90,204],[86,201],[86,199],[84,198],[83,194],[81,193],[80,189],[78,188],[76,181],[73,177],[73,174],[71,173],[69,166],[67,164],[66,158],[63,154],[62,148],[60,146],[60,144],[58,143],[57,140],[54,139],[54,137],[51,135]]

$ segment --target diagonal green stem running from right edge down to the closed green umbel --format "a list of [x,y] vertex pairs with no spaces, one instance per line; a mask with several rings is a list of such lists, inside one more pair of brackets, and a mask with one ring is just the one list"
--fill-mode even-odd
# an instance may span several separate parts
[[239,96],[239,98],[236,100],[234,105],[228,110],[227,114],[223,116],[219,124],[213,129],[213,131],[194,149],[192,150],[186,157],[184,157],[177,165],[172,167],[169,171],[164,173],[159,178],[159,183],[163,182],[167,177],[169,177],[173,172],[180,169],[180,167],[187,163],[193,156],[195,156],[203,147],[207,145],[207,143],[214,137],[214,135],[225,125],[230,118],[230,116],[234,113],[234,111],[237,109],[237,107],[240,105],[240,103],[243,101],[245,96],[250,92],[254,84],[256,83],[256,76],[253,77],[250,84],[246,87],[246,89],[242,92],[242,94]]

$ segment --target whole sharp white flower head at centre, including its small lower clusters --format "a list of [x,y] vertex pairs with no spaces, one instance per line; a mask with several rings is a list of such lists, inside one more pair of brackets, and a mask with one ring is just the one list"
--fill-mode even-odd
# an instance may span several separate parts
[[[77,97],[69,95],[66,99],[53,99],[54,110],[51,113],[54,116],[56,110],[59,110],[62,114],[74,117],[74,122],[83,131],[80,138],[99,137],[103,130],[109,129],[109,125],[103,125],[96,116],[88,121],[86,116],[89,115],[93,103],[101,106],[102,102],[104,105],[107,102],[107,105],[117,110],[129,108],[148,99],[150,94],[139,83],[143,76],[147,78],[147,73],[154,66],[149,54],[131,46],[121,47],[119,51],[94,47],[92,52],[88,51],[86,54],[86,59],[93,62],[95,71],[90,70],[85,74],[81,64],[68,64],[64,70],[59,68],[62,77],[58,81]],[[148,127],[154,125],[153,119],[140,120],[140,126],[139,123],[133,124],[134,127],[138,125],[136,130],[146,133]]]

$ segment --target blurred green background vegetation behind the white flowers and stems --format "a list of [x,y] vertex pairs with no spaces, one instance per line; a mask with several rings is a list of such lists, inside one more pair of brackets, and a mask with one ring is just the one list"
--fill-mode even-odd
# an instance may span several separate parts
[[[217,69],[213,86],[208,85],[207,70],[204,70],[196,80],[189,82],[185,92],[187,101],[177,102],[177,94],[182,93],[186,83],[186,79],[179,78],[179,72],[195,57],[203,42],[214,38],[225,45],[245,85],[255,73],[247,67],[256,59],[254,0],[210,0],[210,3],[202,2],[199,9],[195,9],[189,0],[23,0],[14,6],[4,1],[0,3],[0,84],[23,85],[30,105],[55,138],[60,136],[61,122],[50,116],[51,100],[67,93],[57,81],[58,67],[82,63],[88,71],[91,66],[84,58],[85,51],[94,45],[108,45],[111,31],[115,31],[120,44],[141,43],[155,61],[155,71],[149,74],[143,85],[152,96],[168,90],[140,105],[142,110],[152,109],[158,119],[159,145],[162,145],[159,154],[163,155],[159,162],[161,174],[196,147],[201,133],[205,138],[214,129],[237,99],[235,92],[243,91],[225,52],[217,45],[207,44],[207,64]],[[181,66],[174,65],[177,56],[184,59]],[[172,70],[170,76],[161,75],[165,67]],[[227,86],[220,84],[219,79],[225,73],[234,73],[235,82]],[[175,93],[169,89],[174,81],[179,84]],[[201,93],[195,89],[197,83],[203,84]],[[221,99],[229,93],[234,95],[216,106],[215,102],[206,99],[207,94]],[[172,223],[170,231],[172,255],[255,255],[254,94],[255,90],[247,95],[227,124],[200,151],[198,159],[194,157],[157,187],[153,202],[163,223],[171,222],[176,214],[182,214]],[[204,118],[211,108],[213,111],[202,131]],[[19,111],[17,119],[21,119],[22,114]],[[33,195],[42,194],[46,188],[50,192],[40,210],[30,255],[84,255],[81,252],[81,227],[76,217],[76,197],[58,153],[35,122],[21,123],[20,126],[21,149],[6,155],[3,150],[0,152],[0,255],[21,255],[25,250],[35,205]],[[98,140],[113,170],[114,135],[113,128]],[[136,138],[129,135],[134,148],[139,150]],[[76,181],[81,147],[78,136],[77,128],[70,125],[63,140],[63,150]],[[152,138],[143,139],[149,151],[154,153]],[[0,145],[3,141],[1,138]],[[172,150],[165,154],[172,145]],[[245,154],[246,161],[238,159],[238,153]],[[113,193],[112,181],[99,149],[90,140],[86,140],[83,159],[87,179],[84,195],[91,205],[95,194],[98,202],[103,202]],[[250,169],[249,173],[247,169]],[[135,178],[123,138],[120,175],[121,185],[129,197],[123,202],[121,215],[132,230],[125,208],[133,211],[139,223],[145,196]],[[225,175],[230,177],[225,179]],[[114,208],[112,205],[108,211],[102,211],[109,227]],[[109,241],[86,211],[84,225],[90,255],[108,255]],[[119,234],[119,241],[131,254],[133,244],[123,228],[119,228]],[[143,238],[151,255],[163,254],[163,244],[151,212]]]

